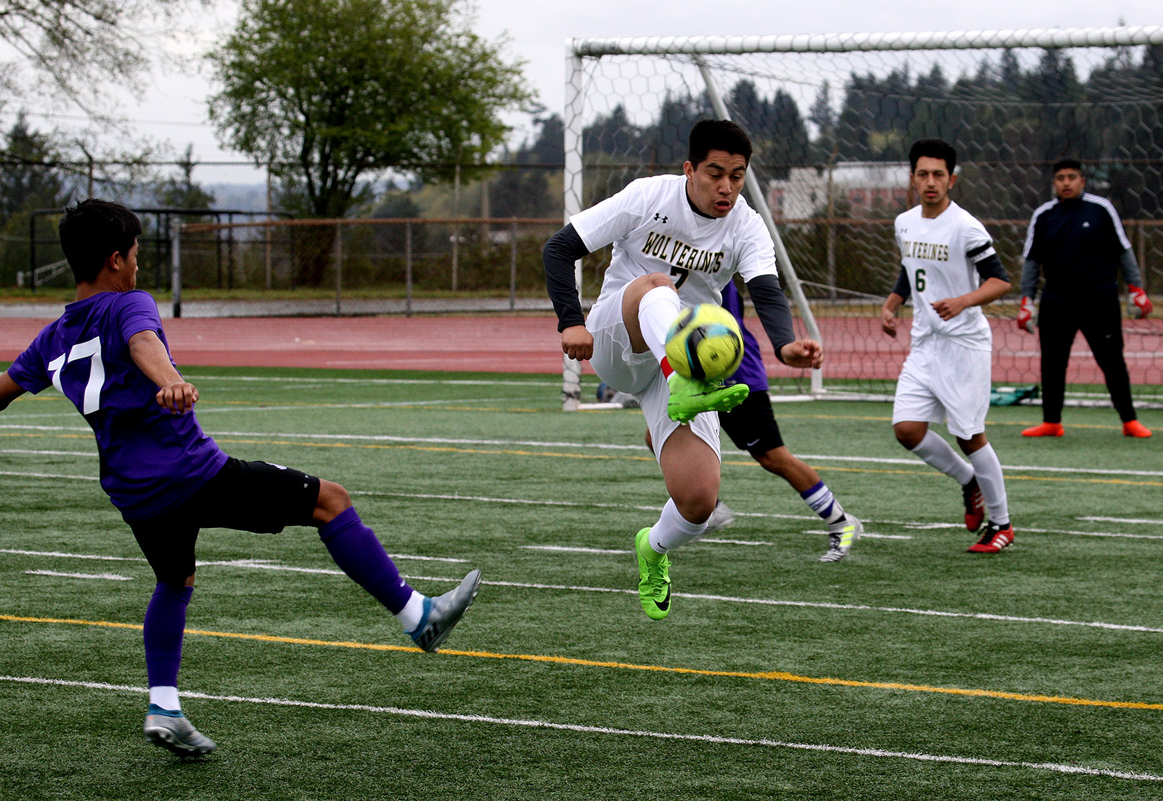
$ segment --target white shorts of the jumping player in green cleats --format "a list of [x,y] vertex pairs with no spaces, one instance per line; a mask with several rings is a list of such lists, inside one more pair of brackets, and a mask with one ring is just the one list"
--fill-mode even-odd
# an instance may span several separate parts
[[[622,295],[626,293],[626,286],[613,295],[601,299],[590,309],[590,316],[585,321],[586,330],[593,335],[593,356],[590,358],[590,365],[598,373],[598,378],[611,388],[628,392],[637,399],[647,419],[647,428],[650,430],[657,459],[666,438],[679,423],[666,415],[670,387],[654,353],[649,350],[635,353],[630,345],[630,334],[622,321]],[[721,460],[718,413],[704,412],[688,424],[700,439],[711,445]]]

